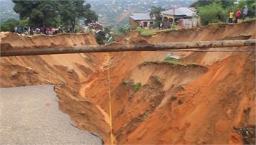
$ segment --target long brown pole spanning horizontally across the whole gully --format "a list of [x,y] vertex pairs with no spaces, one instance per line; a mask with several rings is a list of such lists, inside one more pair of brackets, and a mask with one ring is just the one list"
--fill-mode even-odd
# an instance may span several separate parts
[[[223,48],[221,51],[230,50],[233,47],[253,46],[250,51],[255,51],[256,39],[233,40],[233,41],[198,41],[198,42],[174,42],[174,43],[138,43],[138,44],[117,44],[117,45],[80,45],[70,48],[5,48],[1,49],[1,56],[18,55],[50,55],[67,53],[103,53],[103,52],[121,52],[121,51],[159,51],[159,50],[206,50],[206,48]],[[217,51],[217,50],[215,50]],[[236,50],[238,51],[238,50]],[[240,52],[242,52],[239,49]],[[246,50],[249,51],[249,50]]]

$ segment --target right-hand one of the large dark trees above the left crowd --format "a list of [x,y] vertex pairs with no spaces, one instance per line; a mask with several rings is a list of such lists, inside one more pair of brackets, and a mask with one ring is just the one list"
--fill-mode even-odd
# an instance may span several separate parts
[[78,19],[85,18],[86,23],[97,21],[97,15],[90,10],[90,4],[85,4],[84,0],[60,1],[60,18],[66,25],[75,28]]

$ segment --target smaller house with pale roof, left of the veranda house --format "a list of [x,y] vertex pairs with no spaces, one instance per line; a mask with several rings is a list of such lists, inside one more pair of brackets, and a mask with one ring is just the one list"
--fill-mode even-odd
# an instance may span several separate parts
[[155,23],[156,18],[149,16],[146,13],[136,13],[129,15],[129,25],[131,28],[137,28],[138,26],[149,27]]

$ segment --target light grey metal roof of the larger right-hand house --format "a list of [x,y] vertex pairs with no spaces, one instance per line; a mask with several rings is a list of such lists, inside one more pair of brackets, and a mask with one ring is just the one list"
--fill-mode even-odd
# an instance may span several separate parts
[[[167,11],[161,12],[161,14],[174,15],[174,10],[169,9]],[[192,11],[188,7],[181,7],[175,9],[175,15],[193,16],[194,14],[196,14],[196,11]]]

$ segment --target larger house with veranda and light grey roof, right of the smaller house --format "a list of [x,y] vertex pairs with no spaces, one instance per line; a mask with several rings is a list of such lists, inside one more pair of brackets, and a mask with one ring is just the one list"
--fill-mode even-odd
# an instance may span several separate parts
[[200,23],[198,16],[196,16],[196,9],[190,7],[179,7],[162,11],[161,16],[165,28],[174,22],[178,23],[181,28],[191,28],[192,26],[198,26]]

